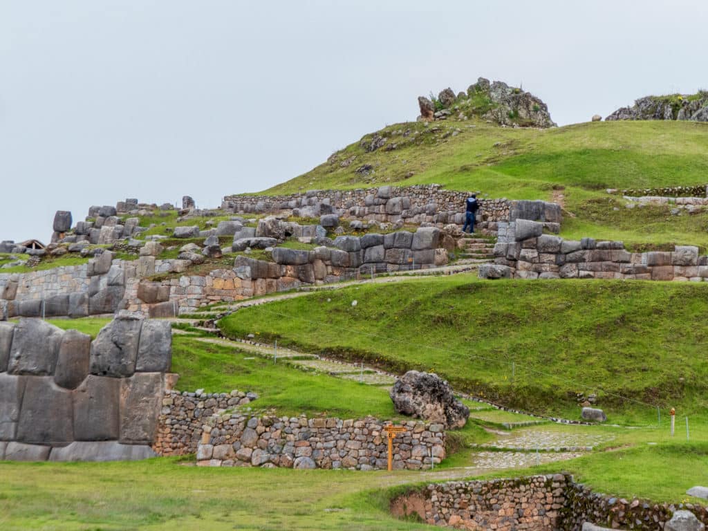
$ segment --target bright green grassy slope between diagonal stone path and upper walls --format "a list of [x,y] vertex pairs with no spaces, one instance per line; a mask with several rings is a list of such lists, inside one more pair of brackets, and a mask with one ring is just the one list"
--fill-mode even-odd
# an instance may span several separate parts
[[221,326],[397,372],[437,372],[531,411],[576,418],[576,392],[594,392],[605,409],[656,418],[632,400],[707,405],[707,300],[703,285],[461,275],[318,292],[241,309]]

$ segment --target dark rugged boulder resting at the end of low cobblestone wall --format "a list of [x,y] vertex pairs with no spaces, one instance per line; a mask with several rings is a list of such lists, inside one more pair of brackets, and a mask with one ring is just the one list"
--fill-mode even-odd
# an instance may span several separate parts
[[450,384],[433,373],[410,370],[396,380],[389,393],[398,413],[462,428],[469,409],[455,399]]

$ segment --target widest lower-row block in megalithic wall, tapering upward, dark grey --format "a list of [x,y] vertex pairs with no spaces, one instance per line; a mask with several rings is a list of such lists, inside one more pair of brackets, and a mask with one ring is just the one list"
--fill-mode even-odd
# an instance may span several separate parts
[[72,392],[49,376],[28,377],[17,423],[17,440],[63,444],[74,440]]

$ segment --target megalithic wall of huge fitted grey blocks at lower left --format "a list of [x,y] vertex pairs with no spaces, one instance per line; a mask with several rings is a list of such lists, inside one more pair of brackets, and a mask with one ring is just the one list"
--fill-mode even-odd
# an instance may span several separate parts
[[0,323],[0,459],[154,455],[169,322],[124,312],[91,336],[41,319]]

